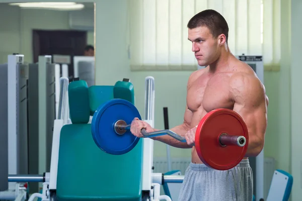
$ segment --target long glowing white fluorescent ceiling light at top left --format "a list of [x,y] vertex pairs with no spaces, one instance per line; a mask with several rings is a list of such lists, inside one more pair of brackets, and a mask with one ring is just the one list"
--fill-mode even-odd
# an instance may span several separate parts
[[55,9],[55,10],[81,10],[85,6],[83,4],[75,4],[73,2],[37,2],[37,3],[18,3],[10,4],[28,9]]

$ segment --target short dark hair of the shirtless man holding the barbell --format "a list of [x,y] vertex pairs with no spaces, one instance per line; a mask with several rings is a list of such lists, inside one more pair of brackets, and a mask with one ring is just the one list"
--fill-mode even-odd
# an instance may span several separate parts
[[217,11],[211,9],[204,10],[193,16],[188,23],[189,29],[195,29],[202,26],[207,27],[214,38],[218,37],[220,34],[224,34],[226,43],[228,43],[228,23],[226,23],[226,20]]

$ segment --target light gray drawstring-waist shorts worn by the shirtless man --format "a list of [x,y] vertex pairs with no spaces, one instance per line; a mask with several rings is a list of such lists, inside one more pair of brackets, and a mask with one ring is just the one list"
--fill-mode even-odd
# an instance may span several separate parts
[[191,163],[179,193],[179,201],[252,201],[253,173],[248,159],[229,170],[215,170]]

